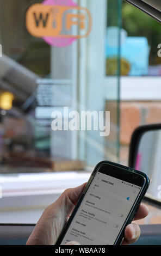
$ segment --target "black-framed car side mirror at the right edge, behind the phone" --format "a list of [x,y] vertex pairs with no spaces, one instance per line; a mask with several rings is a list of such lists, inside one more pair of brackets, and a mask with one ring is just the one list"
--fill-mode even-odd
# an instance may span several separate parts
[[133,132],[128,165],[149,176],[144,202],[161,208],[161,124],[140,126]]

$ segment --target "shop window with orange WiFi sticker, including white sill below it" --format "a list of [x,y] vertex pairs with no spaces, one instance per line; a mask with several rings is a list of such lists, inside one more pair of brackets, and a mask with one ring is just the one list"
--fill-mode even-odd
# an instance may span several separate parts
[[96,163],[119,162],[121,2],[0,0],[2,223],[35,223]]

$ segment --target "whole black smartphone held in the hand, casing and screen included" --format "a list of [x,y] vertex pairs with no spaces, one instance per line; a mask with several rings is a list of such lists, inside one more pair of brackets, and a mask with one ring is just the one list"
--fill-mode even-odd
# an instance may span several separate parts
[[120,245],[149,184],[143,172],[98,163],[56,244]]

